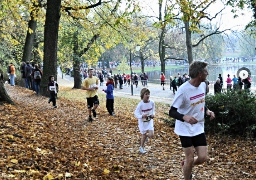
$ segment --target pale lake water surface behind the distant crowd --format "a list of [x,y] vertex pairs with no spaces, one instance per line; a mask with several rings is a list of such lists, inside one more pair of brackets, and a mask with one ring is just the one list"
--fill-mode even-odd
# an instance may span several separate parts
[[[230,78],[232,79],[234,74],[236,75],[236,72],[238,69],[246,67],[251,71],[251,79],[252,79],[252,88],[256,87],[256,64],[249,64],[249,65],[214,65],[214,66],[207,66],[209,75],[207,76],[208,80],[211,83],[215,83],[216,79],[219,77],[219,74],[222,74],[224,87],[226,88],[227,83],[225,82],[227,80],[227,75],[230,75]],[[178,73],[181,74],[181,76],[184,73],[188,74],[188,66],[185,68],[180,69],[168,69],[166,70],[166,83],[169,83],[170,76],[178,76]],[[159,83],[160,84],[160,75],[161,71],[149,71],[147,72],[149,75],[149,82],[150,83]]]

